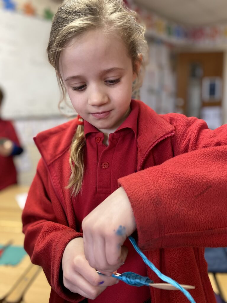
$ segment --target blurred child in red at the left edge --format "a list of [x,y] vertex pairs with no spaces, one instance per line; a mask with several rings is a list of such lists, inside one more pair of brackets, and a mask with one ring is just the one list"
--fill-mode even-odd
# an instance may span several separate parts
[[[0,89],[0,108],[2,107],[3,98],[4,95]],[[13,157],[20,155],[22,151],[12,122],[0,118],[0,190],[17,183],[17,172]]]

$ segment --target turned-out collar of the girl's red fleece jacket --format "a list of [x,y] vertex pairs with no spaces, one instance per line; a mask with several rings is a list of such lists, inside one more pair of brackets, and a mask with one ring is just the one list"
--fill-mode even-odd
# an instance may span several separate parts
[[[132,100],[131,105],[139,108],[137,120],[137,158],[139,165],[149,149],[173,132],[174,127],[143,102]],[[47,165],[69,150],[77,128],[76,121],[76,119],[70,120],[62,125],[41,132],[34,138],[35,144]]]

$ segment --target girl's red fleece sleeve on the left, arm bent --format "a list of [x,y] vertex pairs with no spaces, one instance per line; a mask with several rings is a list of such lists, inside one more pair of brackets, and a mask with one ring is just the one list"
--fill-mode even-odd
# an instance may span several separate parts
[[63,285],[61,259],[67,243],[82,234],[67,226],[64,210],[42,160],[28,192],[22,223],[24,247],[32,263],[43,268],[49,284],[60,297],[71,302],[81,301],[80,295],[68,291]]

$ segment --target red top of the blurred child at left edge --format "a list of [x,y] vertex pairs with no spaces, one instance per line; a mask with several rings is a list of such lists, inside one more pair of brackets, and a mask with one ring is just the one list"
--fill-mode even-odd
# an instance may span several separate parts
[[[10,121],[0,118],[0,138],[7,138],[20,146],[15,129]],[[13,163],[13,157],[3,157],[0,155],[0,190],[17,183],[16,168]]]

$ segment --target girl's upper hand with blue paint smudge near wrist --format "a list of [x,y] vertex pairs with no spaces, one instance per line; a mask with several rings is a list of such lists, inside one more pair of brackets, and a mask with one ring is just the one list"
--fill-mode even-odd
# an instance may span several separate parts
[[135,217],[123,187],[118,188],[82,222],[84,252],[90,266],[111,275],[127,257],[122,246],[136,230]]

